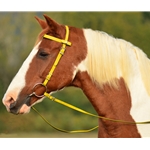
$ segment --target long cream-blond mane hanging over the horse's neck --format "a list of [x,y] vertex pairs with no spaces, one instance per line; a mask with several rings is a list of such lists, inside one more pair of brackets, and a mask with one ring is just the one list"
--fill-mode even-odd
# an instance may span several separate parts
[[150,60],[141,49],[102,31],[84,29],[84,35],[88,48],[86,67],[101,88],[104,83],[118,88],[116,79],[120,77],[124,78],[129,87],[133,77],[140,72],[150,95]]

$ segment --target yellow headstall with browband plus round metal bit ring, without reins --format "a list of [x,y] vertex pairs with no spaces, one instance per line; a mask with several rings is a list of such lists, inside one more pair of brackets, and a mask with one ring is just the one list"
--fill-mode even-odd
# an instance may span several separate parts
[[[34,96],[36,96],[38,98],[42,98],[42,97],[44,97],[44,96],[46,96],[48,94],[47,93],[47,83],[51,79],[51,77],[53,75],[53,72],[55,71],[55,69],[56,69],[56,67],[57,67],[57,65],[58,65],[61,57],[64,55],[65,50],[66,50],[66,46],[71,46],[71,42],[68,41],[68,38],[69,38],[69,28],[68,28],[68,26],[65,26],[65,28],[66,28],[66,36],[65,36],[64,40],[56,38],[56,37],[53,37],[53,36],[50,36],[50,35],[47,35],[47,34],[45,34],[43,36],[43,38],[46,38],[46,39],[49,39],[49,40],[52,40],[52,41],[56,41],[56,42],[62,43],[62,47],[61,47],[61,49],[60,49],[60,51],[59,51],[59,53],[58,53],[58,55],[57,55],[57,57],[55,59],[55,62],[53,64],[52,68],[50,69],[48,75],[46,76],[44,82],[43,83],[37,83],[37,84],[35,84],[34,87],[33,87],[33,93],[30,94],[29,96],[33,96],[34,95]],[[42,87],[45,88],[45,92],[44,92],[43,95],[36,94],[36,92],[34,90],[35,90],[35,88],[37,86],[42,86]]]

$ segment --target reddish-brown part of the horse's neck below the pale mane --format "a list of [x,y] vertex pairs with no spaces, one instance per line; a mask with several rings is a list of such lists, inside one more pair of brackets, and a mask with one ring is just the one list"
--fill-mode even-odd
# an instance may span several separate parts
[[[119,89],[114,89],[107,84],[101,89],[91,80],[87,72],[79,72],[73,81],[73,85],[83,90],[98,115],[112,119],[134,121],[130,115],[130,94],[126,89],[124,80],[120,78],[118,82]],[[135,125],[129,127],[128,125],[99,119],[99,127],[99,137],[140,136]],[[132,130],[133,132],[131,132]]]

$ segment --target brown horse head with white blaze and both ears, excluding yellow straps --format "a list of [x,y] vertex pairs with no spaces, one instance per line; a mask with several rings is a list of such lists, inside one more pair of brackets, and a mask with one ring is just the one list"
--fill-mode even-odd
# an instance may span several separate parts
[[[52,93],[65,86],[69,86],[78,72],[78,65],[85,58],[84,39],[81,35],[82,30],[69,27],[69,41],[71,46],[66,46],[64,56],[56,66],[53,75],[46,86],[43,82],[53,66],[53,63],[62,47],[62,43],[43,38],[50,35],[58,39],[64,39],[66,28],[58,24],[48,16],[44,15],[45,20],[36,17],[42,31],[37,37],[35,46],[26,58],[18,73],[10,83],[4,97],[3,103],[7,110],[14,114],[23,114],[30,111],[31,106],[41,102],[44,92]],[[84,51],[79,53],[79,48]]]

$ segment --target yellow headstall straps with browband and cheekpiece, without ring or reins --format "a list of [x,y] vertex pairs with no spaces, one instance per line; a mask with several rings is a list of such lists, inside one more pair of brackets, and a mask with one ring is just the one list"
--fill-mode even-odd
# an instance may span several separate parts
[[47,39],[50,39],[50,40],[53,40],[53,41],[56,41],[56,42],[60,42],[62,43],[62,47],[56,57],[56,60],[51,68],[51,70],[49,71],[48,75],[46,76],[46,79],[45,81],[43,82],[43,85],[46,86],[48,81],[51,79],[51,76],[53,75],[53,72],[57,66],[57,64],[59,63],[61,57],[63,56],[65,50],[66,50],[66,45],[67,46],[71,46],[71,42],[68,41],[68,38],[69,38],[69,28],[68,26],[65,26],[66,27],[66,36],[65,36],[65,40],[63,39],[59,39],[59,38],[56,38],[56,37],[53,37],[53,36],[50,36],[50,35],[47,35],[45,34],[44,35],[44,38],[47,38]]

